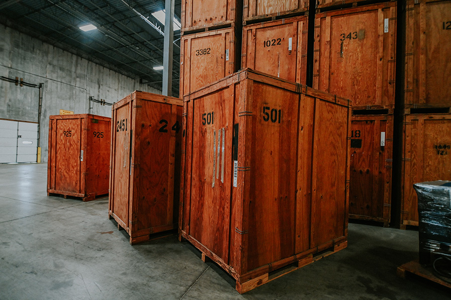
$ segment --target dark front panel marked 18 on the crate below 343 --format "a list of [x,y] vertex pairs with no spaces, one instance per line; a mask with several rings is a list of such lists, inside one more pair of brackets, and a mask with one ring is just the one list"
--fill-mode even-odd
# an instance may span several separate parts
[[381,133],[376,129],[380,123],[351,123],[349,214],[383,218],[384,178],[379,170],[381,163],[384,167],[384,159],[379,146]]

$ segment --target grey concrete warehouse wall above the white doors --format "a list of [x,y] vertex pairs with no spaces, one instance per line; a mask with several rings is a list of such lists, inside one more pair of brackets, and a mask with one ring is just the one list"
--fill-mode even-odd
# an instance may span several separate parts
[[[98,64],[0,25],[0,76],[44,83],[42,161],[47,161],[48,118],[59,110],[88,113],[88,97],[117,102],[134,90],[161,91]],[[39,89],[0,80],[0,119],[38,122]],[[111,117],[111,106],[94,103],[92,114]]]

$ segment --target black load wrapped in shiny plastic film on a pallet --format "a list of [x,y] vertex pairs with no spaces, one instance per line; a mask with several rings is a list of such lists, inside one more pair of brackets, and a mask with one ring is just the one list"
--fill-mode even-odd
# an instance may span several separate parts
[[430,264],[431,255],[451,257],[451,181],[413,185],[418,195],[420,263]]

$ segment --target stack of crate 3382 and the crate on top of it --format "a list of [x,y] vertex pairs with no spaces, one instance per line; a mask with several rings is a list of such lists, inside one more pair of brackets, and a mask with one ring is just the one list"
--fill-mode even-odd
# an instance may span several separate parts
[[239,68],[242,1],[182,2],[180,97]]

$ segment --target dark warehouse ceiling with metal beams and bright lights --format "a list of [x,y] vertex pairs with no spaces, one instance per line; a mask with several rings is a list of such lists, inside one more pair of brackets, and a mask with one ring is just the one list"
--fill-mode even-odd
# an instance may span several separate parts
[[[0,22],[161,90],[163,71],[154,67],[163,65],[164,26],[152,13],[163,9],[164,0],[3,0]],[[175,20],[180,12],[181,0],[175,0]],[[97,29],[80,30],[88,24]],[[173,95],[178,95],[179,39],[178,29]]]

